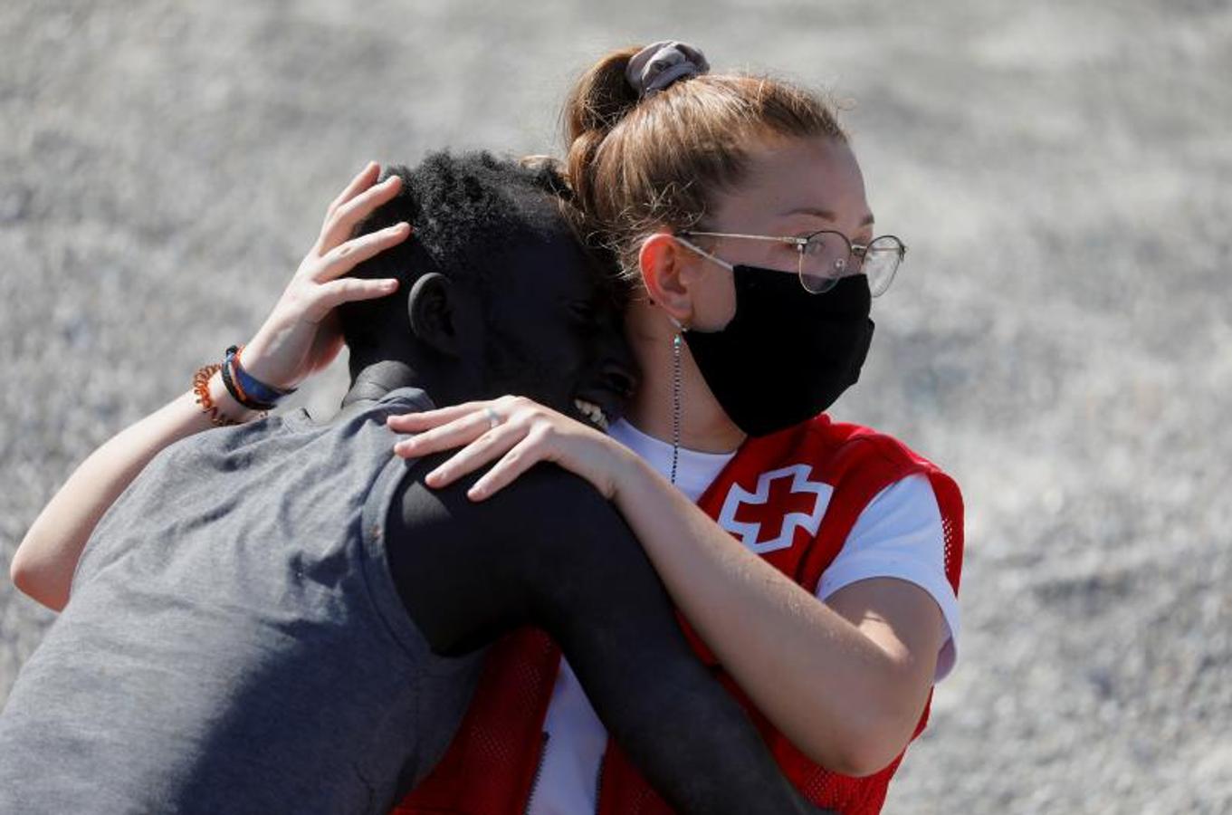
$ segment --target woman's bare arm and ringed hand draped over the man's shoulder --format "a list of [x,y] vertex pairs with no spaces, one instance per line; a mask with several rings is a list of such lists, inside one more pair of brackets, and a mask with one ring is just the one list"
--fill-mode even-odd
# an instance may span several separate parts
[[[489,429],[488,408],[504,417]],[[445,486],[496,464],[472,487],[490,496],[537,461],[585,477],[632,526],[676,605],[754,704],[818,763],[877,772],[914,732],[945,623],[933,598],[872,578],[825,603],[716,524],[636,454],[527,399],[505,397],[391,418],[399,455],[464,446],[428,477]]]

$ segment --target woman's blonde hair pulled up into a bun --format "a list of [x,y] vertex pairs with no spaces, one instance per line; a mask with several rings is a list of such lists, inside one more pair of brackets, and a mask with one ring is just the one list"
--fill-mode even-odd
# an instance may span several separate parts
[[655,228],[685,229],[715,195],[736,189],[749,148],[771,136],[846,142],[834,107],[790,83],[702,74],[644,99],[626,80],[641,48],[614,51],[574,85],[564,107],[564,171],[588,231],[637,277]]

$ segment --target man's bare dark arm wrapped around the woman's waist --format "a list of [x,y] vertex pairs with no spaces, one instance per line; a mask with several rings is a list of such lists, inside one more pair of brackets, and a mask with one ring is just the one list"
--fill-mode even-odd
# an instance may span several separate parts
[[421,483],[428,471],[421,464],[408,477],[388,540],[399,592],[434,647],[456,652],[537,625],[673,806],[816,811],[696,658],[636,538],[598,492],[538,466],[476,504],[469,480],[434,491]]

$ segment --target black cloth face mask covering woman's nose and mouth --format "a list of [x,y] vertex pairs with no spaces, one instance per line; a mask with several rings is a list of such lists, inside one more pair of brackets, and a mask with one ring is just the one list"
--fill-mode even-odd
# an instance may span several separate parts
[[722,330],[686,330],[694,361],[744,433],[769,435],[809,419],[860,379],[872,342],[864,275],[813,295],[793,274],[736,266],[736,316]]

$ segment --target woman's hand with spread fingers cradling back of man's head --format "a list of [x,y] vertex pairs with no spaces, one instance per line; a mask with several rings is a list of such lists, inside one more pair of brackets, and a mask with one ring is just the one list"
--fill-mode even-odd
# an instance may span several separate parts
[[355,226],[398,195],[402,179],[391,175],[377,184],[375,162],[351,179],[325,211],[317,243],[304,256],[291,282],[260,330],[244,348],[244,369],[275,387],[294,387],[334,361],[342,334],[334,318],[341,303],[384,297],[398,290],[397,279],[347,277],[355,266],[397,245],[410,234],[398,223],[351,238]]

